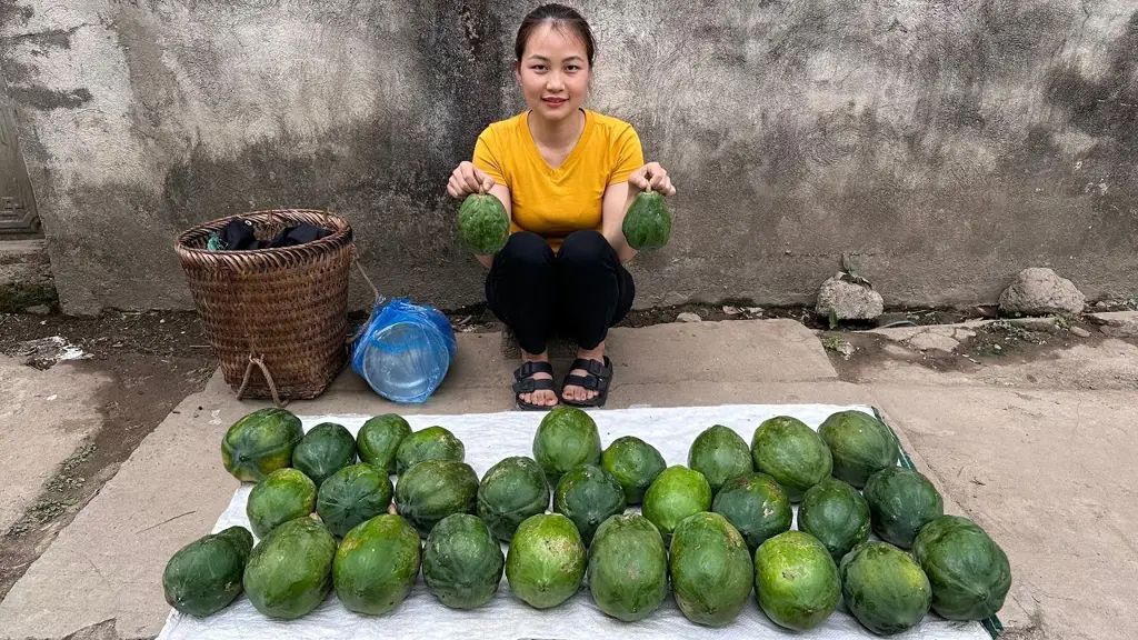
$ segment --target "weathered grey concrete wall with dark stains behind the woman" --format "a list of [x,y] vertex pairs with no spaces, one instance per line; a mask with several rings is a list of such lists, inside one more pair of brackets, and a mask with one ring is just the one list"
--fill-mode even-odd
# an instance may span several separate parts
[[[445,183],[522,107],[533,6],[0,0],[64,310],[189,307],[174,236],[271,206],[349,216],[385,293],[480,302]],[[588,106],[679,190],[673,243],[634,263],[638,306],[810,302],[843,252],[887,304],[995,301],[1029,265],[1133,292],[1132,0],[578,7]]]

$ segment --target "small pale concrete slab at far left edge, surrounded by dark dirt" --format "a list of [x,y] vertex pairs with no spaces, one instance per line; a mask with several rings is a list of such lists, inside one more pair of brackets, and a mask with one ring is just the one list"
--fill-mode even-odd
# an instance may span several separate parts
[[0,356],[0,534],[83,438],[102,426],[98,397],[109,384],[109,377],[66,362],[41,371]]

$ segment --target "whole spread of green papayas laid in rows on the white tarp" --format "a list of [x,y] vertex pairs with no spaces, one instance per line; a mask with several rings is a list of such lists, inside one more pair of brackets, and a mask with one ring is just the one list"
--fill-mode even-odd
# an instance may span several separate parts
[[[539,425],[533,458],[501,460],[481,481],[462,461],[464,446],[453,434],[443,427],[412,433],[394,415],[369,420],[352,438],[332,424],[304,435],[287,411],[263,410],[234,424],[222,449],[230,473],[258,483],[247,508],[262,539],[253,557],[270,559],[250,563],[253,577],[245,571],[238,582],[248,583],[250,600],[257,606],[259,599],[266,615],[306,613],[333,588],[349,608],[381,614],[410,592],[420,561],[431,592],[456,608],[488,601],[503,573],[522,600],[555,606],[579,589],[587,568],[594,600],[621,620],[651,613],[670,579],[681,609],[698,623],[733,620],[753,584],[762,610],[790,629],[820,624],[839,591],[875,631],[913,626],[930,606],[945,617],[978,620],[1000,608],[1011,580],[998,545],[973,523],[943,516],[932,484],[896,465],[892,432],[861,412],[835,413],[818,432],[793,418],[772,418],[750,446],[716,425],[692,443],[686,467],[666,467],[658,450],[634,436],[602,451],[592,418],[562,407]],[[394,492],[391,471],[399,474]],[[397,515],[386,512],[393,493]],[[800,502],[799,531],[791,531],[791,502]],[[625,515],[637,503],[643,515]],[[308,517],[313,511],[319,518]],[[885,542],[868,541],[871,524]],[[286,525],[286,534],[274,535]],[[925,542],[916,543],[926,531]],[[240,538],[232,530],[228,535],[230,542]],[[423,550],[419,536],[427,538]],[[206,540],[187,549],[225,547]],[[510,542],[506,555],[500,540]],[[450,565],[428,560],[432,544]],[[282,549],[270,552],[277,547]],[[901,547],[912,547],[915,558]],[[167,567],[174,576],[167,600],[208,615],[191,610],[181,586],[207,596],[206,608],[225,606],[232,581],[221,592],[198,588],[208,575],[179,579],[171,572],[181,566],[182,574],[192,574],[184,568],[193,566],[185,560],[192,553],[183,551]],[[377,574],[376,557],[387,558],[387,573]],[[281,558],[312,564],[298,569]],[[353,558],[372,561],[354,566]],[[708,563],[727,573],[703,575],[700,567]],[[311,600],[286,609],[272,605],[272,586],[292,584],[297,571],[308,579],[311,589],[300,591]],[[662,586],[653,576],[662,576]],[[297,593],[295,584],[282,589]]]

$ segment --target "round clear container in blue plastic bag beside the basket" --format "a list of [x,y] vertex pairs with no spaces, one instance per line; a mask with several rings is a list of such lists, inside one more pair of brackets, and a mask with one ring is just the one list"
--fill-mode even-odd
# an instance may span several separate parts
[[421,403],[443,383],[457,344],[446,315],[405,298],[380,300],[352,347],[352,369],[379,395]]

